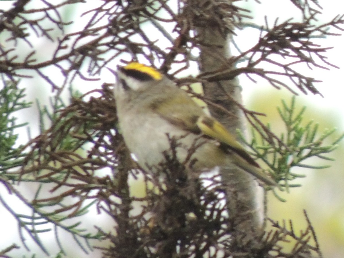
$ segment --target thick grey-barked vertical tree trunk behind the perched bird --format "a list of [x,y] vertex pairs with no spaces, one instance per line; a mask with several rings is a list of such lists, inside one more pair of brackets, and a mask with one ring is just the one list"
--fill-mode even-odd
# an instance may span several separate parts
[[[222,33],[211,26],[198,28],[197,33],[206,43],[204,45],[207,45],[200,47],[199,65],[201,73],[213,71],[223,66],[231,56],[229,47],[231,36],[224,37]],[[234,114],[234,116],[229,117],[228,113],[209,106],[213,117],[233,134],[236,133],[237,128],[245,130],[241,110],[233,100],[228,98],[230,95],[237,102],[242,102],[238,79],[204,83],[203,90],[206,97],[213,99],[216,104]],[[264,217],[262,189],[254,177],[245,171],[222,169],[220,173],[226,187],[227,209],[229,216],[233,218],[235,232],[240,238],[245,237],[247,241],[252,240],[254,236],[262,232]]]

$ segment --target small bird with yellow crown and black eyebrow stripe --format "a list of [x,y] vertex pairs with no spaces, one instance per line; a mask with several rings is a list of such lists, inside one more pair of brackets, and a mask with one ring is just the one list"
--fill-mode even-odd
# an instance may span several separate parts
[[[191,170],[238,167],[268,185],[276,185],[225,127],[205,114],[192,98],[156,69],[132,62],[119,67],[114,94],[119,126],[130,152],[148,170],[164,160],[169,137],[178,140],[177,158],[184,162],[198,146]],[[168,137],[169,136],[169,137]]]

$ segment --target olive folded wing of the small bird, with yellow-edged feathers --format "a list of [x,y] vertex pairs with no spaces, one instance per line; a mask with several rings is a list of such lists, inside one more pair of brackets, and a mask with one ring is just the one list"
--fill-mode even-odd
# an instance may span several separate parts
[[258,163],[236,141],[235,137],[215,118],[206,115],[194,101],[190,103],[190,97],[186,93],[153,101],[150,108],[175,126],[193,133],[202,133],[218,141],[224,149],[234,152],[249,164],[259,168]]

